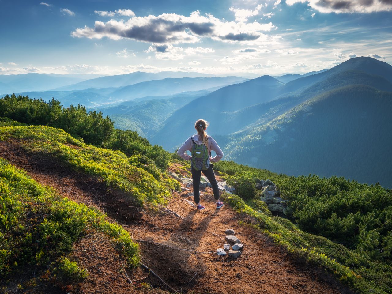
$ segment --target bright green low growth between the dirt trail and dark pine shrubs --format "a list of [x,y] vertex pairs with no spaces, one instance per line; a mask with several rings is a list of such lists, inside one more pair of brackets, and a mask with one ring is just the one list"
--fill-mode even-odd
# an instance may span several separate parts
[[125,156],[88,145],[73,138],[62,129],[47,126],[0,127],[0,140],[20,140],[31,152],[52,154],[78,172],[100,177],[108,187],[127,193],[129,201],[149,208],[165,205],[170,189],[180,184],[162,174],[149,158],[142,155]]

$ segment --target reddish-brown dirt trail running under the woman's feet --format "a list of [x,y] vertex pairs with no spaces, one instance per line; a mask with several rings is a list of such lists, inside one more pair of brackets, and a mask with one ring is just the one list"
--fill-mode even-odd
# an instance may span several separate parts
[[[261,232],[239,225],[238,221],[244,220],[244,217],[234,212],[229,205],[216,209],[212,189],[208,187],[201,189],[201,202],[206,207],[203,211],[196,211],[195,207],[183,200],[193,201],[185,192],[173,192],[168,208],[182,218],[167,212],[151,214],[127,207],[117,201],[113,191],[107,191],[103,183],[70,171],[50,156],[27,154],[17,144],[0,142],[0,157],[25,169],[34,180],[53,186],[64,196],[78,203],[98,207],[113,221],[118,221],[129,230],[132,238],[144,240],[140,241],[142,262],[180,293],[351,293],[323,270],[292,258]],[[215,252],[226,243],[224,232],[229,228],[235,230],[236,236],[245,245],[237,260],[220,257],[216,253],[186,251]],[[114,259],[112,262],[119,261]],[[104,266],[103,262],[101,267]],[[147,276],[140,268],[128,274],[131,279]],[[113,273],[105,271],[100,272],[100,275],[104,276],[106,283],[114,278],[110,276]],[[126,283],[120,281],[123,278],[118,276],[117,273],[115,283],[118,287],[124,292],[132,292]],[[162,286],[152,275],[143,281],[154,287]],[[99,289],[98,286],[94,285]],[[97,291],[100,292],[106,290]],[[114,286],[111,292],[122,293]]]

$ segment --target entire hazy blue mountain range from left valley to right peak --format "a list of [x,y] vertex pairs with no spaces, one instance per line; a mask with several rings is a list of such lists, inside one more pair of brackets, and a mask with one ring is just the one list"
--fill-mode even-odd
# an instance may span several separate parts
[[[358,57],[318,72],[252,80],[181,74],[104,76],[25,94],[94,107],[115,127],[138,131],[170,151],[204,118],[226,160],[392,187],[391,65]],[[0,92],[5,82],[0,76]]]

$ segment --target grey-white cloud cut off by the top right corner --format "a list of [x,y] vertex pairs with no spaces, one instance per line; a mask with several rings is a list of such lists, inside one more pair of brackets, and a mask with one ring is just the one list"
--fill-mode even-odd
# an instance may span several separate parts
[[391,0],[286,0],[287,5],[307,2],[310,7],[322,13],[372,13],[389,11]]

